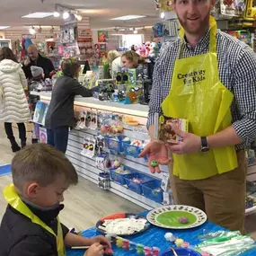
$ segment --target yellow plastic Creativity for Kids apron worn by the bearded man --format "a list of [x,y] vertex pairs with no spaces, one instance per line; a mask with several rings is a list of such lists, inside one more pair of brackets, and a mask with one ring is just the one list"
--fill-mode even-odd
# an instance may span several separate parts
[[[162,103],[163,115],[188,119],[189,132],[207,137],[231,126],[230,105],[234,95],[219,80],[216,57],[216,21],[210,17],[210,40],[207,54],[175,61],[171,91]],[[181,39],[184,31],[181,29]],[[234,146],[207,153],[173,154],[173,174],[182,180],[206,179],[237,167]]]

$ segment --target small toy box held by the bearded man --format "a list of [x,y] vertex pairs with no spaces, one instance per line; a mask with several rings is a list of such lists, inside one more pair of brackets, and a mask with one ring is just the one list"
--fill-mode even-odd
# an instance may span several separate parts
[[180,144],[182,137],[175,134],[172,129],[172,125],[175,125],[182,131],[188,132],[188,120],[187,119],[173,119],[171,117],[160,116],[158,113],[154,115],[154,131],[155,137],[170,144]]

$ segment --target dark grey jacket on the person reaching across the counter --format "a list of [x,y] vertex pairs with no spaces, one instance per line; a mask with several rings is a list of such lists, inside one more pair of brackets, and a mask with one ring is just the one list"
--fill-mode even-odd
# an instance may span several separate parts
[[86,89],[74,78],[63,75],[57,78],[57,82],[51,93],[49,109],[45,119],[46,128],[75,127],[74,100],[75,95],[92,97],[93,91]]

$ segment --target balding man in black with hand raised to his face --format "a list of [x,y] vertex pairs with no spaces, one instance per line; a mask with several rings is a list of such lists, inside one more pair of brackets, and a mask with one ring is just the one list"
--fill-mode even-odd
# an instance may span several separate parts
[[25,59],[23,71],[26,78],[29,80],[33,77],[31,74],[31,66],[40,66],[44,72],[44,78],[49,78],[50,73],[55,71],[55,68],[48,57],[42,57],[35,45],[30,45],[27,49],[29,57]]

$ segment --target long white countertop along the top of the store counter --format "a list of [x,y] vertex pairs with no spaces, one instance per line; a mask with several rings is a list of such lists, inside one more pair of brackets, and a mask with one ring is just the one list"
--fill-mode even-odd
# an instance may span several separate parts
[[[37,93],[31,92],[32,95],[40,96],[40,100],[42,101],[50,101],[51,93]],[[98,99],[92,98],[84,98],[82,96],[75,96],[75,105],[92,108],[97,110],[104,110],[116,113],[122,113],[125,115],[131,115],[134,117],[147,117],[148,106],[141,104],[122,104],[118,102],[102,102]]]

